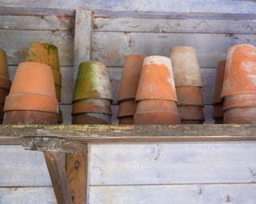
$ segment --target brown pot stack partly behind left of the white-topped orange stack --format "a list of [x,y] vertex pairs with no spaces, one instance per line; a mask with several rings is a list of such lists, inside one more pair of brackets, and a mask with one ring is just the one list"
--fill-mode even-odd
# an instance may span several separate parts
[[138,81],[142,73],[142,64],[145,57],[146,56],[142,54],[130,54],[126,56],[118,94],[119,124],[134,123],[134,114],[137,107],[135,96],[138,88]]

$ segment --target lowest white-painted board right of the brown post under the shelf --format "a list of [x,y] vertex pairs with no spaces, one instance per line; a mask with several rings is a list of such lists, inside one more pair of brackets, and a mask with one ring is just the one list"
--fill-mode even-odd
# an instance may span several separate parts
[[256,184],[90,186],[90,204],[254,204]]

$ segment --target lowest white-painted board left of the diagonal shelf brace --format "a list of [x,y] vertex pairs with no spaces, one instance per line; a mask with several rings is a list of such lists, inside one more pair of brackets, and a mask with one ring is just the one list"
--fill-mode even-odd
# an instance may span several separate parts
[[57,204],[52,187],[0,188],[2,204]]

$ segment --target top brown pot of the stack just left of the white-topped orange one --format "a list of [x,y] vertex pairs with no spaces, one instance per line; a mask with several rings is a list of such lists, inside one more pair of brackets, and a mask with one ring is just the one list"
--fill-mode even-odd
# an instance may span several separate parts
[[145,57],[146,55],[142,54],[130,54],[126,56],[118,94],[119,102],[122,100],[131,100],[135,98]]

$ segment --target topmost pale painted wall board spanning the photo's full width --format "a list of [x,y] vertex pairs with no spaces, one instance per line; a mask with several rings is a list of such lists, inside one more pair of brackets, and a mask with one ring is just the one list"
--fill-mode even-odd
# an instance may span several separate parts
[[2,0],[0,6],[22,6],[27,8],[61,8],[87,10],[137,10],[154,12],[206,12],[206,13],[240,13],[255,14],[255,2],[234,0],[130,0],[130,1],[103,1],[103,0],[55,0],[34,1]]

